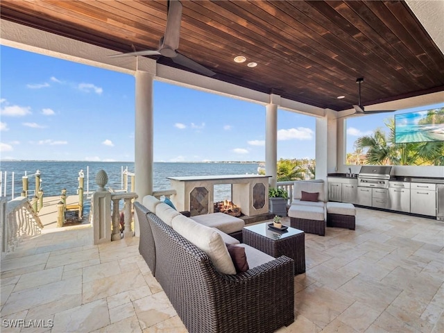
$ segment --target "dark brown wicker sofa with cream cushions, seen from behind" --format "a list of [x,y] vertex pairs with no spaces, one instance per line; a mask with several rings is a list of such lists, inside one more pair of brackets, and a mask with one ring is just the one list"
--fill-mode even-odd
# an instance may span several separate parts
[[[135,203],[139,251],[189,332],[274,332],[293,323],[293,259],[275,259],[170,210],[157,214],[160,207],[154,214]],[[163,221],[162,214],[173,218]],[[216,253],[202,249],[221,239]],[[245,248],[248,271],[225,272],[232,269],[224,253],[227,241]]]

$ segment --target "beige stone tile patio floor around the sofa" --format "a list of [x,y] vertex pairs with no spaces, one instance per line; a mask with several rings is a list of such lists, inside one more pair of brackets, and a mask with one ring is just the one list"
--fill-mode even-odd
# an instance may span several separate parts
[[[440,221],[357,208],[355,231],[306,234],[296,321],[277,332],[444,332],[443,232]],[[1,331],[187,332],[138,241],[93,246],[91,228],[24,240],[1,261]],[[12,319],[53,327],[6,328]]]

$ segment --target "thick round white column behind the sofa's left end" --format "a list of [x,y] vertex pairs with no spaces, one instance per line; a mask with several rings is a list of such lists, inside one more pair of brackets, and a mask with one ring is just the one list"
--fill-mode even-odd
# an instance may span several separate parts
[[[142,203],[153,193],[153,74],[137,71],[135,110],[135,192]],[[139,224],[135,220],[135,236]]]

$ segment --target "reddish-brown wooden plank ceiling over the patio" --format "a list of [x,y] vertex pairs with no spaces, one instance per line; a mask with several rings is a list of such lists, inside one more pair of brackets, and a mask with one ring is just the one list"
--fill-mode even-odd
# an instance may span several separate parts
[[[178,51],[218,80],[332,110],[357,104],[358,77],[363,105],[444,90],[443,53],[403,1],[182,4]],[[157,49],[167,20],[167,1],[1,0],[0,10],[3,19],[117,51],[110,54]]]

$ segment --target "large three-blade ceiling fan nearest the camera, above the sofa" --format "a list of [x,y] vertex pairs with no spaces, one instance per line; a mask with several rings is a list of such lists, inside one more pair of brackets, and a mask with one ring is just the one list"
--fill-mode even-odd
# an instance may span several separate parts
[[176,64],[193,69],[205,76],[214,76],[214,71],[203,67],[194,60],[187,58],[180,54],[177,49],[179,48],[180,40],[180,21],[182,19],[182,3],[178,0],[168,1],[168,15],[167,26],[165,28],[165,34],[159,41],[159,48],[157,50],[145,50],[136,51],[130,53],[114,54],[110,58],[121,58],[128,56],[164,56],[171,58]]

